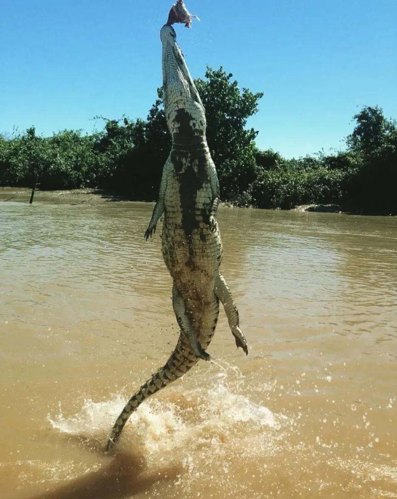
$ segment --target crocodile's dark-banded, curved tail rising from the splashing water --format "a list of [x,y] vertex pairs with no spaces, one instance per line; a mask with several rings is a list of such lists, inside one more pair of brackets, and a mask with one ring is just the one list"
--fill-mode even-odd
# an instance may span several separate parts
[[153,374],[153,376],[141,386],[125,405],[112,428],[112,432],[108,439],[107,450],[117,442],[128,418],[145,399],[176,379],[181,378],[197,363],[197,361],[198,357],[191,352],[187,339],[181,334],[174,352],[171,354],[171,357],[164,367]]

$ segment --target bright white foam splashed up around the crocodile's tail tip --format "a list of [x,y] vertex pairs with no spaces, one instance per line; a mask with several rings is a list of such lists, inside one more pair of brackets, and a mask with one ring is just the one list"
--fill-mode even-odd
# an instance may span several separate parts
[[[149,454],[154,455],[176,447],[186,448],[187,443],[192,451],[194,442],[200,442],[202,446],[208,441],[215,445],[236,432],[240,438],[257,433],[263,427],[277,432],[286,422],[285,416],[276,416],[244,395],[233,393],[226,385],[226,373],[219,373],[212,379],[209,389],[186,391],[182,385],[175,385],[169,388],[168,399],[148,399],[131,415],[123,434],[127,439],[139,438]],[[47,420],[54,429],[70,435],[107,434],[125,400],[121,394],[104,402],[85,399],[74,416],[64,417],[60,406],[60,412],[54,417],[48,415]],[[241,425],[248,425],[250,431],[238,432]]]

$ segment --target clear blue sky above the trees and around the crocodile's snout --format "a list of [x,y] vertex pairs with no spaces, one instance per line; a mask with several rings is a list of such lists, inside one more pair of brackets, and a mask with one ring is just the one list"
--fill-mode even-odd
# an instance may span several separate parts
[[[145,118],[162,84],[159,31],[172,1],[4,0],[0,132],[102,128],[95,115]],[[187,0],[176,25],[194,78],[205,65],[263,91],[248,125],[286,157],[343,147],[352,116],[397,117],[395,0]]]

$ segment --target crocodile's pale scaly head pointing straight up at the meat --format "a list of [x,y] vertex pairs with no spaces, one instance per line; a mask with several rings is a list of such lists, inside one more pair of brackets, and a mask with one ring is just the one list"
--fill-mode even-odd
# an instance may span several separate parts
[[174,142],[197,142],[205,136],[205,111],[196,85],[177,43],[175,29],[165,24],[163,44],[163,98],[168,128]]

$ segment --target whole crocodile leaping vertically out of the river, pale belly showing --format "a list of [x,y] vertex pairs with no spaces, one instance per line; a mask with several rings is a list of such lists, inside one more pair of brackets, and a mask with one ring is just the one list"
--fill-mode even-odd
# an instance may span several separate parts
[[152,237],[164,215],[162,253],[173,279],[173,308],[181,331],[166,364],[130,398],[117,418],[108,450],[143,400],[185,375],[199,359],[210,360],[205,350],[215,331],[219,301],[237,348],[248,354],[237,307],[219,270],[219,183],[206,142],[204,107],[170,22],[162,27],[160,37],[164,109],[173,142],[145,238]]

